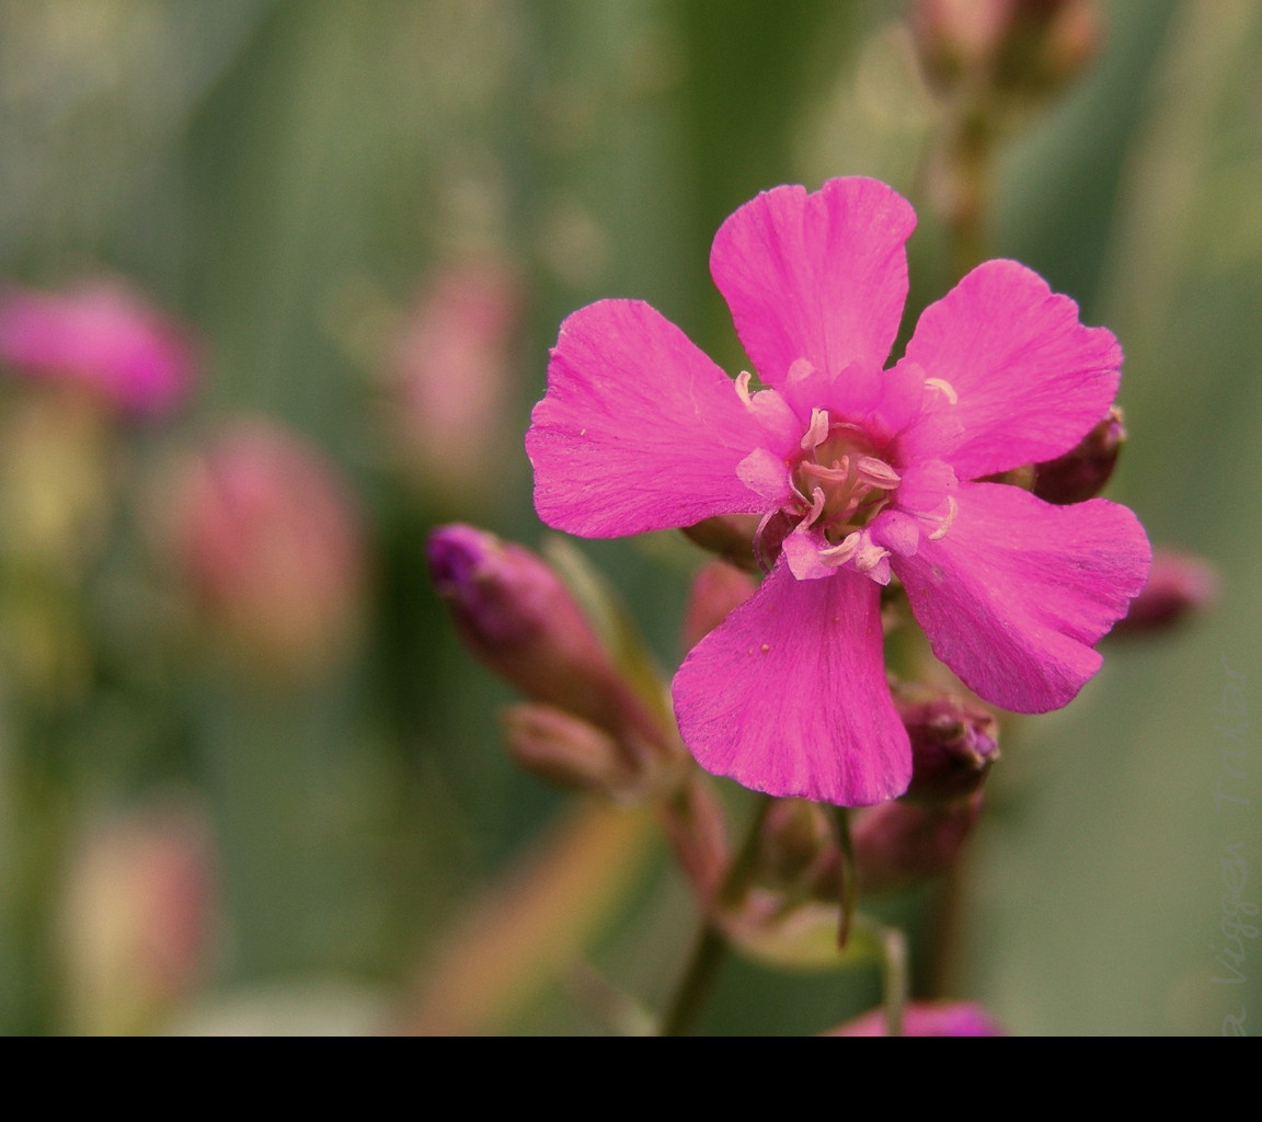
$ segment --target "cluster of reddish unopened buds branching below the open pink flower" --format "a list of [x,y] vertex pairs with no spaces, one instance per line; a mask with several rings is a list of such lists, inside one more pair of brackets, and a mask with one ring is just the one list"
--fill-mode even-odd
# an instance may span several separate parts
[[[680,743],[663,683],[646,688],[611,654],[553,565],[462,525],[434,531],[429,565],[464,645],[528,698],[505,714],[514,760],[564,788],[654,800],[703,912],[748,954],[781,964],[828,960],[847,896],[911,885],[958,857],[998,755],[994,718],[976,703],[929,690],[899,695],[914,751],[911,788],[856,813],[849,841],[828,808],[775,799],[733,856],[723,804]],[[684,644],[694,646],[755,588],[727,562],[703,567]]]

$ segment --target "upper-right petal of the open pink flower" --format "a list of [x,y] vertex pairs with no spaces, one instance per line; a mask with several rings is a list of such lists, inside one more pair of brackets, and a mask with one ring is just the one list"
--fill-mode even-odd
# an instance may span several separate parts
[[[907,360],[958,400],[939,391],[904,454],[945,459],[976,480],[1073,448],[1113,404],[1122,350],[1106,328],[1083,327],[1078,304],[1037,273],[986,261],[925,309]],[[935,418],[958,425],[934,430]]]

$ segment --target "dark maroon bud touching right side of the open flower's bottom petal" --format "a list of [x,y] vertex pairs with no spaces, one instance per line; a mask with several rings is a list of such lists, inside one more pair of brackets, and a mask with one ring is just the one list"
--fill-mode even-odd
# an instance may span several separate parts
[[1000,757],[994,717],[950,694],[895,692],[895,706],[911,740],[911,785],[904,798],[943,803],[981,789]]

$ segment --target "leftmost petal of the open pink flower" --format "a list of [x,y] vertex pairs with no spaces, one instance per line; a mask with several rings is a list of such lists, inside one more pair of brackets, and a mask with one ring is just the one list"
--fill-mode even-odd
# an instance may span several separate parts
[[588,538],[753,514],[766,504],[737,464],[761,440],[732,380],[678,327],[637,300],[601,300],[562,324],[531,414],[535,509]]

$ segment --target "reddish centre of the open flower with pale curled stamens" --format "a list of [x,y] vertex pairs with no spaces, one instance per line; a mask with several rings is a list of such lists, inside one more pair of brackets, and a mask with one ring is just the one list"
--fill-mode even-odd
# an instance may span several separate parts
[[[791,514],[817,526],[833,545],[862,530],[891,501],[901,477],[882,458],[868,434],[825,409],[811,410],[793,468]],[[790,511],[786,511],[790,514]]]

